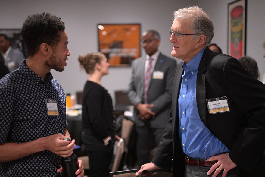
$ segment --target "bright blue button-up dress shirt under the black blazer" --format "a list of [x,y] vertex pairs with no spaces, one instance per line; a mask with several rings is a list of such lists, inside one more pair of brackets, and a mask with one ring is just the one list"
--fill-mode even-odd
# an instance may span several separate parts
[[229,149],[208,130],[201,121],[198,112],[196,80],[205,48],[187,64],[183,62],[184,74],[182,75],[178,99],[178,128],[183,152],[187,156],[206,160],[211,156],[229,152]]

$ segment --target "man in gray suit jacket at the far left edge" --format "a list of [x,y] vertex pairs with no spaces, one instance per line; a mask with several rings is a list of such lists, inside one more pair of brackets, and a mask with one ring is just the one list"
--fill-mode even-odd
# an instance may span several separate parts
[[5,58],[5,65],[8,67],[9,71],[12,72],[19,68],[25,57],[22,52],[13,49],[9,44],[10,41],[8,37],[5,34],[0,34],[1,55]]

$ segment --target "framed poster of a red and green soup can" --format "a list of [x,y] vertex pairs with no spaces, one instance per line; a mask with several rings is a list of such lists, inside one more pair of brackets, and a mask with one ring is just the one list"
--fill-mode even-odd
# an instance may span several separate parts
[[247,0],[228,4],[228,55],[239,59],[246,55]]

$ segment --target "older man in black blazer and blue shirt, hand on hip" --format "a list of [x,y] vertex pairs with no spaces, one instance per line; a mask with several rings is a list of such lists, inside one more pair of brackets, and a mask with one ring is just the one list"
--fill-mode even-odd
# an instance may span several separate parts
[[214,26],[197,6],[174,12],[172,118],[152,162],[174,176],[263,176],[265,85],[240,62],[209,50]]

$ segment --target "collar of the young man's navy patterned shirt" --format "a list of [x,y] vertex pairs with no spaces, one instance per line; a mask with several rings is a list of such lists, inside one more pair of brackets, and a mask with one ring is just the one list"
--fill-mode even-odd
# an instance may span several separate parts
[[30,70],[30,68],[28,68],[25,63],[26,63],[27,59],[25,59],[22,64],[19,67],[19,71],[26,77],[28,77],[29,79],[31,79],[33,82],[35,82],[36,84],[39,83],[45,83],[47,81],[50,81],[53,76],[51,75],[51,72],[49,72],[46,76],[46,79],[43,79],[42,77],[40,77],[38,74],[34,73],[33,71]]

